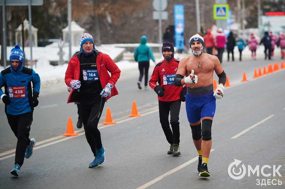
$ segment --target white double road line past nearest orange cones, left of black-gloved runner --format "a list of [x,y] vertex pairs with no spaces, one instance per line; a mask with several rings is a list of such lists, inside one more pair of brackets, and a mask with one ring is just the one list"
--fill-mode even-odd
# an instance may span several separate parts
[[[146,115],[148,115],[148,114],[152,114],[152,113],[154,113],[154,112],[158,112],[158,109],[151,110],[151,111],[149,111],[149,112],[143,113],[143,114],[141,114],[140,117],[146,116]],[[118,123],[123,123],[123,122],[129,121],[129,120],[132,120],[132,119],[135,119],[135,118],[137,118],[137,117],[127,117],[127,118],[125,118],[125,119],[123,119],[123,120],[117,121],[117,124],[118,124]],[[103,125],[103,124],[99,124],[99,125],[98,125],[98,129],[104,129],[104,128],[106,128],[106,127],[110,127],[110,126],[114,126],[114,125],[116,125],[116,124],[113,124],[113,125]],[[77,135],[77,136],[73,136],[73,137],[63,137],[62,135],[59,135],[59,136],[57,136],[57,137],[52,137],[52,138],[48,138],[48,139],[46,139],[46,140],[42,140],[42,141],[40,141],[40,142],[36,142],[36,145],[34,146],[34,150],[37,150],[37,149],[40,149],[40,148],[43,148],[43,147],[46,147],[46,146],[50,146],[50,145],[52,145],[52,144],[56,144],[56,143],[58,143],[58,142],[62,142],[62,141],[65,141],[65,140],[68,140],[68,139],[71,139],[71,138],[74,138],[74,137],[78,137],[78,136],[81,136],[81,135],[84,135],[84,134],[85,134],[85,132],[84,132],[83,129],[76,130],[76,131],[74,131],[74,133],[78,133],[78,135]],[[60,138],[61,138],[61,139],[60,139]],[[59,140],[57,140],[57,139],[59,139]],[[56,140],[56,141],[53,141],[53,140]],[[53,141],[53,142],[51,142],[51,141]],[[44,144],[44,145],[42,145],[42,146],[38,146],[38,145],[43,144],[43,143],[46,143],[46,142],[48,142],[48,143],[47,143],[47,144]],[[5,155],[7,155],[7,154],[14,153],[14,154],[11,154],[11,155],[9,155],[9,156],[5,156],[5,157],[3,157],[3,158],[0,158],[0,161],[15,156],[15,151],[16,151],[16,149],[14,149],[14,150],[9,150],[9,151],[7,151],[7,152],[0,153],[0,157],[1,157],[1,156],[5,156]]]

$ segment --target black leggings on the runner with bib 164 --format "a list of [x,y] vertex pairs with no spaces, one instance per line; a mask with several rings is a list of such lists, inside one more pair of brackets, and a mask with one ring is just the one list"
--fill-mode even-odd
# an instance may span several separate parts
[[97,100],[81,98],[80,101],[80,114],[85,136],[94,156],[96,155],[96,148],[102,148],[101,134],[97,126],[102,115],[104,104],[105,98],[98,98]]

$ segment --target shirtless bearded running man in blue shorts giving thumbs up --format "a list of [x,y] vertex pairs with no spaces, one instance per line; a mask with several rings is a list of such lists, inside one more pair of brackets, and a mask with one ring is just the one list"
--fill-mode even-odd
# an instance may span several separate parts
[[[207,163],[212,146],[211,127],[216,110],[216,98],[223,97],[226,74],[216,56],[203,53],[203,37],[199,34],[193,35],[189,46],[193,55],[182,58],[174,83],[176,86],[188,84],[185,105],[193,142],[199,154],[197,171],[200,177],[209,177]],[[219,77],[219,85],[213,92],[214,70]]]

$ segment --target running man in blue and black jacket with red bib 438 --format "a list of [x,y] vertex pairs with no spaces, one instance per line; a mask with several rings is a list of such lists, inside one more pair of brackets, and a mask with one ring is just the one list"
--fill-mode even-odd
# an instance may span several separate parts
[[[19,45],[11,50],[11,66],[1,71],[0,98],[5,103],[5,113],[8,123],[17,137],[15,166],[11,171],[19,176],[24,158],[32,156],[35,139],[29,139],[30,126],[33,121],[34,107],[38,106],[40,94],[40,77],[30,68],[24,67],[24,53]],[[33,84],[33,89],[31,85]]]

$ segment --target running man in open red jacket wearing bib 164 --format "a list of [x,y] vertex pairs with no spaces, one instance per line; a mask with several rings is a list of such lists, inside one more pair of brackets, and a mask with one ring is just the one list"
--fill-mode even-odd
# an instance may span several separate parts
[[65,83],[72,88],[67,103],[80,102],[85,136],[95,156],[89,167],[94,168],[105,162],[105,148],[97,126],[105,102],[118,94],[115,83],[121,71],[107,54],[94,48],[91,34],[82,34],[80,42],[82,52],[70,59],[65,73]]

